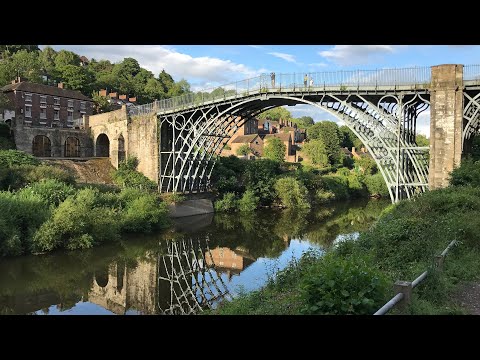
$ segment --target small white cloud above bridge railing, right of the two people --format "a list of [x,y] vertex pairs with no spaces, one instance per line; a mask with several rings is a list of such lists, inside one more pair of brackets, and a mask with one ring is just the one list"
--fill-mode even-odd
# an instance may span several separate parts
[[392,54],[399,47],[395,45],[335,45],[330,50],[320,51],[318,54],[337,65],[359,65],[375,61],[381,55]]

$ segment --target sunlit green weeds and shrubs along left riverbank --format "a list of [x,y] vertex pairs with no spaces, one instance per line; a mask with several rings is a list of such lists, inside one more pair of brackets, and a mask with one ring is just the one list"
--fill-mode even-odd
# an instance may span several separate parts
[[0,256],[86,249],[167,227],[167,204],[136,165],[129,159],[115,171],[119,188],[77,186],[64,170],[0,151]]

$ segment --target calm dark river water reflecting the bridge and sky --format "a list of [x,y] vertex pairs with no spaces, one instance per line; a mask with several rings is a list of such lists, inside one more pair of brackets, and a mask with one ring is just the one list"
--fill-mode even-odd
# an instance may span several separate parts
[[177,219],[168,230],[0,260],[0,314],[195,314],[258,289],[309,249],[367,230],[388,201]]

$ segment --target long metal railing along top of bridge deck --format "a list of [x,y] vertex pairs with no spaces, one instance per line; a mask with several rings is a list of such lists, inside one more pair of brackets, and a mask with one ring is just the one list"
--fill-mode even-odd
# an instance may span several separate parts
[[[471,71],[474,72],[473,68]],[[308,90],[321,90],[329,87],[348,89],[364,86],[424,85],[430,83],[430,78],[431,71],[428,66],[402,69],[278,73],[274,77],[271,74],[262,74],[216,88],[134,106],[131,108],[131,113],[148,114],[184,109],[221,99],[243,97],[261,92],[302,91],[307,88]]]

